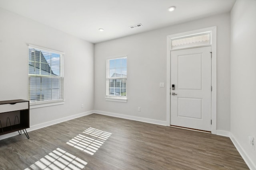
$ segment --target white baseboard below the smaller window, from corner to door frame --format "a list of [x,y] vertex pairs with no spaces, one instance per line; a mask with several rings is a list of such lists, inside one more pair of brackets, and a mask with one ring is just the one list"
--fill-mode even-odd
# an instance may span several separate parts
[[130,116],[130,115],[122,115],[118,113],[110,113],[106,111],[99,111],[99,110],[94,110],[94,113],[100,114],[100,115],[108,115],[112,117],[119,117],[119,118],[124,118],[124,119],[130,119],[130,120],[135,120],[135,121],[142,121],[146,123],[152,123],[156,125],[163,125],[166,126],[166,121],[160,121],[160,120],[155,120],[155,119],[148,119],[148,118],[143,118],[143,117],[136,117],[136,116]]

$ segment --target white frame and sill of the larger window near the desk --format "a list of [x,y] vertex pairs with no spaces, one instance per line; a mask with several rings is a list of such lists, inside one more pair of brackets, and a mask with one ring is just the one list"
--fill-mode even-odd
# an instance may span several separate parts
[[[50,75],[43,75],[43,74],[30,74],[29,72],[29,66],[30,66],[30,58],[29,58],[29,53],[30,53],[30,48],[33,49],[38,49],[38,51],[47,51],[49,53],[56,53],[60,55],[60,66],[59,66],[59,76],[52,76],[52,74],[50,73]],[[37,78],[58,78],[60,81],[59,86],[61,88],[60,89],[60,98],[59,99],[52,99],[52,100],[41,100],[41,101],[32,101],[30,100],[30,108],[37,108],[37,107],[45,107],[45,106],[54,106],[54,105],[59,105],[59,104],[64,104],[64,54],[61,51],[56,51],[56,50],[52,50],[52,49],[48,49],[48,48],[44,48],[44,47],[40,47],[40,46],[36,46],[36,45],[28,45],[28,80],[29,80],[29,84],[28,84],[28,99],[30,100],[30,92],[31,92],[31,88],[30,88],[30,78],[31,77],[37,77]],[[40,59],[41,60],[41,59]],[[41,61],[40,61],[41,62]],[[40,63],[39,62],[39,63]],[[38,62],[35,62],[38,63]],[[41,64],[41,63],[40,63]],[[51,68],[51,67],[50,67]],[[41,70],[40,70],[41,72]],[[51,86],[52,86],[52,82],[51,82]],[[40,88],[42,89],[42,88]],[[53,93],[51,92],[51,95]]]

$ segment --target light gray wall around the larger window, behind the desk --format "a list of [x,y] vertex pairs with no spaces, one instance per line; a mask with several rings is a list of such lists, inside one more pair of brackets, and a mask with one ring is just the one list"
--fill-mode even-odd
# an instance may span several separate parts
[[0,100],[28,100],[28,44],[32,44],[65,53],[65,102],[30,109],[30,126],[94,109],[92,43],[2,8],[0,25]]

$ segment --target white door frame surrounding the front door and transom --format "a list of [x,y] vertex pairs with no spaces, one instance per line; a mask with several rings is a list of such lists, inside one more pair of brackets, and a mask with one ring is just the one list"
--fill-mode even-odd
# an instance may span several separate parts
[[166,125],[170,126],[170,76],[171,76],[171,39],[197,35],[200,33],[211,33],[212,46],[212,134],[216,134],[217,129],[217,27],[197,29],[184,33],[177,33],[167,36],[167,72],[166,72]]

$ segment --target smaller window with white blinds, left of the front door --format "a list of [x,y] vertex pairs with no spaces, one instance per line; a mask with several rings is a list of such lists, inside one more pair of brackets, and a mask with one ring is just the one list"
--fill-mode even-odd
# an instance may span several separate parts
[[123,98],[127,96],[127,57],[106,60],[106,96]]

